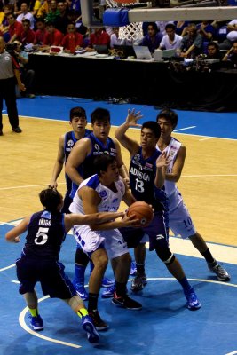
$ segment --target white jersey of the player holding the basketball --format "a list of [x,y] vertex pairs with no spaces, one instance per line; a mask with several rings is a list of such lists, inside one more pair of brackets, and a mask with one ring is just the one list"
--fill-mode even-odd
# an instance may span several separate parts
[[[78,190],[83,186],[91,187],[99,193],[99,197],[101,198],[98,206],[99,212],[115,212],[119,209],[120,202],[125,193],[125,185],[122,178],[115,182],[116,192],[113,192],[107,186],[102,185],[97,174],[84,180],[82,184],[80,184]],[[83,201],[79,198],[78,193],[75,193],[74,200],[70,206],[70,211],[73,213],[84,214]]]

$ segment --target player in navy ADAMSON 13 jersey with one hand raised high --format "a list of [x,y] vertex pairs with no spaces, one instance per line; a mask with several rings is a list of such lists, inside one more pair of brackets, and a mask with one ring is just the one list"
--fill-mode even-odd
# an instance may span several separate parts
[[[201,307],[201,304],[194,288],[189,284],[181,264],[169,248],[168,209],[163,185],[165,170],[170,162],[170,157],[156,149],[156,144],[161,135],[161,129],[157,122],[148,121],[142,125],[140,145],[126,135],[126,131],[130,127],[140,127],[137,123],[139,118],[141,118],[139,112],[135,113],[134,110],[129,110],[126,121],[115,130],[115,138],[130,152],[131,192],[138,201],[146,201],[153,205],[154,219],[150,225],[143,228],[149,236],[150,250],[155,250],[157,256],[182,286],[186,296],[187,308],[197,310]],[[143,247],[142,244],[141,246]],[[139,247],[137,248],[138,252]],[[143,260],[139,260],[140,263],[137,265],[138,274],[132,282],[134,291],[146,285],[145,256],[143,255]]]

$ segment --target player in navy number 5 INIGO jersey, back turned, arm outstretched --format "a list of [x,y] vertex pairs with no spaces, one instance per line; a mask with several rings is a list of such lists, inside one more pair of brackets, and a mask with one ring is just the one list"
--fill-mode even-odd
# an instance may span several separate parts
[[20,258],[16,262],[17,276],[20,280],[19,292],[24,296],[31,314],[30,326],[43,330],[43,319],[38,312],[36,282],[40,282],[43,295],[61,298],[82,319],[82,327],[90,343],[99,341],[99,334],[83,304],[76,295],[72,282],[64,272],[64,265],[59,262],[59,251],[67,232],[73,225],[103,224],[124,213],[102,212],[88,215],[61,213],[62,195],[48,188],[40,194],[43,210],[23,219],[19,225],[6,233],[6,241],[20,242],[20,234],[27,232],[26,243]]

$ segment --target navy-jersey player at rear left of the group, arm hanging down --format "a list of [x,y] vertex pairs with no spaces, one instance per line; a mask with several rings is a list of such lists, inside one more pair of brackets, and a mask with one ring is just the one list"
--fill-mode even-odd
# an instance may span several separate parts
[[[87,125],[87,119],[86,112],[83,107],[73,107],[70,110],[69,124],[72,126],[73,130],[70,130],[59,138],[58,156],[54,164],[50,182],[50,186],[52,188],[57,188],[57,179],[60,175],[61,170],[63,169],[64,164],[66,164],[68,155],[71,153],[71,150],[75,146],[75,143],[83,137],[87,137],[91,133],[91,130],[85,128]],[[73,201],[70,198],[72,180],[70,179],[70,177],[67,176],[67,174],[65,174],[65,179],[67,190],[64,197],[62,212],[68,213],[69,206]]]

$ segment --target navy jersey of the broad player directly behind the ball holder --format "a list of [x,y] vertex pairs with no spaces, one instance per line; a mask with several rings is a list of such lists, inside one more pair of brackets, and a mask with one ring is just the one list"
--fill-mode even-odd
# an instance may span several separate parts
[[[117,150],[115,147],[115,143],[111,138],[107,138],[107,144],[104,145],[98,138],[91,133],[87,138],[91,140],[91,153],[87,155],[83,164],[78,167],[78,172],[84,179],[87,177],[91,177],[96,173],[94,170],[93,161],[96,156],[99,154],[107,153],[111,156],[117,155]],[[70,193],[70,197],[74,198],[75,192],[78,189],[78,185],[73,183],[72,190]]]

